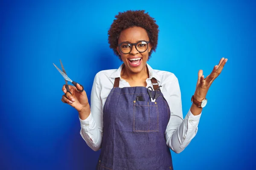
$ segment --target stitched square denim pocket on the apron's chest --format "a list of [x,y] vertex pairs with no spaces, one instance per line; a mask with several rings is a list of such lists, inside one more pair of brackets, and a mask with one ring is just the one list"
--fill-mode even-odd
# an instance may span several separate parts
[[158,132],[159,112],[156,102],[135,101],[133,132]]

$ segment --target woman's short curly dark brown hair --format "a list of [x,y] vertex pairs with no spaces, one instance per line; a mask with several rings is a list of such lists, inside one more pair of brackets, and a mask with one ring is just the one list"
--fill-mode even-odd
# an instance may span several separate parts
[[145,13],[145,10],[119,12],[115,18],[116,19],[108,30],[108,43],[109,47],[113,49],[114,54],[116,54],[122,61],[121,56],[119,56],[118,51],[116,50],[119,35],[127,28],[138,26],[144,28],[148,33],[149,41],[152,46],[151,51],[148,54],[149,59],[152,52],[156,51],[158,41],[159,29],[154,18],[150,17],[148,12]]

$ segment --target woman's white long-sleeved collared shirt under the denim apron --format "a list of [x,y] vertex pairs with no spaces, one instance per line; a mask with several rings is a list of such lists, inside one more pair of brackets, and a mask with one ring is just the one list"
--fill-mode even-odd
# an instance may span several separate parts
[[[90,115],[81,120],[80,134],[87,145],[93,150],[99,150],[102,144],[103,134],[103,107],[105,101],[113,88],[116,77],[120,77],[119,88],[131,87],[128,82],[121,78],[123,65],[118,69],[104,70],[96,74],[91,91]],[[189,110],[183,119],[180,86],[177,77],[168,72],[152,69],[148,64],[149,78],[146,79],[147,86],[152,86],[151,78],[157,79],[162,85],[161,92],[169,104],[171,116],[166,127],[166,144],[175,153],[180,153],[195,137],[201,114],[194,116]],[[153,87],[153,86],[152,86]],[[145,141],[146,142],[146,141]]]

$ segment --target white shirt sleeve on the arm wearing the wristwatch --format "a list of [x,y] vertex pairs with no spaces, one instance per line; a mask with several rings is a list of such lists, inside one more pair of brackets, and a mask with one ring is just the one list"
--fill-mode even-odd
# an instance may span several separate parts
[[172,89],[169,96],[171,116],[166,127],[166,144],[175,153],[180,153],[195,137],[201,114],[194,116],[189,109],[183,119],[180,86],[176,77],[169,89]]

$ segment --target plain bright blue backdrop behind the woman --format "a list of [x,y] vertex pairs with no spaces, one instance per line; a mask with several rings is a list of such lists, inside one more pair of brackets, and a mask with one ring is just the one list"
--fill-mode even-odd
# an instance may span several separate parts
[[98,71],[121,62],[108,45],[119,11],[145,9],[159,43],[148,62],[180,82],[183,115],[197,73],[228,58],[207,94],[198,133],[172,152],[175,170],[252,170],[255,159],[256,3],[253,1],[1,1],[0,169],[92,170],[99,151],[81,138],[75,109],[61,102],[67,75],[90,98]]

